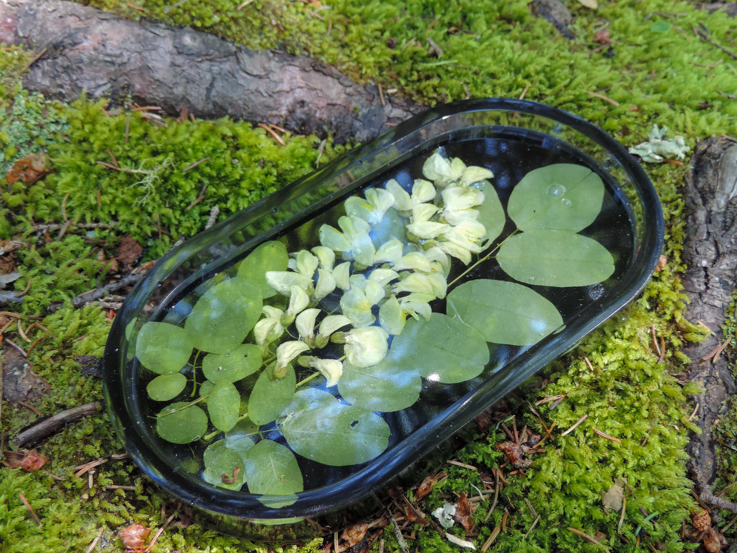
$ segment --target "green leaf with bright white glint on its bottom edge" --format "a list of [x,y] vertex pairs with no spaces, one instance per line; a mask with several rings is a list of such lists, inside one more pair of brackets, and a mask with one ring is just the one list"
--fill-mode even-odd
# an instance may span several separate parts
[[390,355],[399,369],[453,384],[481,374],[489,363],[489,345],[463,321],[433,313],[429,321],[408,321],[402,335],[394,337]]

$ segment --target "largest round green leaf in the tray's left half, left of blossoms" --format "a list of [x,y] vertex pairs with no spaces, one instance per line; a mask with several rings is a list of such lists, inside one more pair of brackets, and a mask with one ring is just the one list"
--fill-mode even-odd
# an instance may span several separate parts
[[248,281],[234,277],[203,293],[186,318],[184,330],[197,349],[231,353],[259,320],[261,309],[261,297],[249,291]]

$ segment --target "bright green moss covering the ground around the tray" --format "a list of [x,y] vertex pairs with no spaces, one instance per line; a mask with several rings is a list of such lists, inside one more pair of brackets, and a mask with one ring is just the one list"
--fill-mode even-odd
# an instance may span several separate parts
[[[254,49],[305,53],[335,64],[360,81],[396,88],[433,105],[464,97],[506,96],[547,102],[572,111],[612,133],[624,145],[646,138],[654,123],[685,136],[689,145],[708,136],[737,135],[736,22],[699,5],[666,0],[607,1],[587,9],[567,0],[573,12],[569,41],[525,0],[117,0],[85,2],[129,18],[191,25]],[[694,28],[708,29],[712,42]],[[609,41],[600,32],[608,29]],[[595,37],[600,42],[594,41]],[[427,38],[444,53],[428,54]],[[315,168],[321,141],[285,136],[282,147],[261,128],[228,119],[165,119],[157,125],[122,106],[106,111],[105,101],[50,102],[23,91],[20,77],[34,52],[0,49],[0,165],[2,173],[29,153],[46,151],[52,171],[35,184],[0,181],[0,240],[17,240],[15,265],[22,277],[11,287],[24,302],[10,311],[41,316],[24,341],[15,323],[4,336],[25,349],[28,361],[52,385],[32,407],[42,415],[102,398],[99,380],[83,375],[77,355],[101,355],[110,324],[99,307],[75,310],[70,300],[105,282],[122,237],[143,246],[140,261],[159,257],[180,237],[204,228],[213,206],[221,218],[248,206]],[[321,159],[343,146],[327,141]],[[111,170],[114,163],[137,173]],[[195,161],[209,158],[183,172]],[[649,165],[647,170],[666,212],[666,265],[643,295],[549,366],[509,400],[517,426],[545,436],[542,453],[523,473],[509,475],[494,512],[485,520],[492,495],[484,494],[474,518],[477,549],[495,532],[491,552],[677,552],[692,549],[683,538],[695,502],[685,475],[685,445],[694,430],[688,400],[693,386],[680,380],[685,358],[679,349],[699,331],[682,318],[680,251],[685,219],[680,195],[686,166]],[[204,185],[206,195],[191,206]],[[61,227],[69,220],[74,224]],[[39,225],[56,224],[50,229]],[[122,268],[120,269],[122,270]],[[53,312],[49,307],[56,307]],[[21,318],[21,328],[32,319]],[[730,319],[727,332],[735,333]],[[44,330],[46,329],[46,330]],[[653,334],[664,339],[664,355]],[[1,347],[9,347],[2,344]],[[556,405],[538,400],[565,395]],[[555,405],[552,409],[551,406]],[[737,406],[719,426],[722,472],[715,492],[735,481]],[[587,419],[563,435],[583,415]],[[2,405],[4,443],[37,418],[27,406]],[[593,429],[617,441],[595,434]],[[503,465],[493,446],[506,439],[492,425],[458,453],[456,460],[478,470],[448,465],[447,479],[417,502],[428,516],[444,501],[483,490],[481,473]],[[48,473],[0,471],[0,549],[4,552],[86,551],[99,535],[97,551],[122,551],[116,532],[139,522],[158,527],[176,505],[159,493],[127,459],[97,467],[93,486],[74,467],[122,453],[105,414],[86,417],[39,445]],[[602,493],[626,479],[626,507],[605,509]],[[106,489],[108,484],[131,490]],[[737,487],[727,498],[737,497]],[[40,519],[36,524],[22,493]],[[412,493],[409,493],[412,497]],[[657,513],[654,515],[654,513]],[[715,513],[716,514],[716,513]],[[724,515],[724,513],[722,513]],[[537,518],[539,515],[539,518]],[[181,519],[176,519],[180,520]],[[191,522],[191,521],[190,521]],[[720,524],[724,527],[726,522]],[[734,536],[736,526],[727,530]],[[577,532],[574,532],[576,530]],[[464,538],[456,524],[450,530]],[[581,536],[582,532],[598,543]],[[404,534],[417,552],[461,548],[419,523]],[[398,551],[390,529],[373,551]],[[227,538],[194,524],[172,524],[153,552],[322,551],[332,539],[302,544],[251,543]]]

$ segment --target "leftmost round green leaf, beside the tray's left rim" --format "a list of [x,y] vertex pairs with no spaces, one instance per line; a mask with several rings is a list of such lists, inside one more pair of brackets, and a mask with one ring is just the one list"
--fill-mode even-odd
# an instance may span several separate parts
[[148,321],[136,339],[136,357],[159,375],[179,372],[192,355],[192,338],[182,327]]

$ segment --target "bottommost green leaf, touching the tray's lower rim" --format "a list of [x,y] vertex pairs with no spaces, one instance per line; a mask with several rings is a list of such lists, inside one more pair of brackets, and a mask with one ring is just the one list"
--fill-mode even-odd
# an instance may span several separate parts
[[262,439],[248,451],[245,473],[249,492],[281,496],[259,498],[267,507],[291,505],[297,500],[294,494],[304,490],[294,453],[270,439]]

